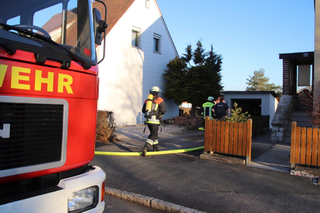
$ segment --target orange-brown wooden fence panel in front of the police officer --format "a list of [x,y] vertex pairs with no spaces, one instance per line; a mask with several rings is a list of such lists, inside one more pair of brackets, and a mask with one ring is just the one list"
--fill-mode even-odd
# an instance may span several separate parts
[[246,123],[224,122],[205,118],[204,152],[246,156],[251,162],[252,119]]

